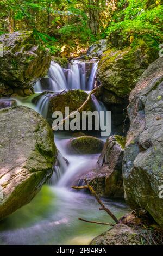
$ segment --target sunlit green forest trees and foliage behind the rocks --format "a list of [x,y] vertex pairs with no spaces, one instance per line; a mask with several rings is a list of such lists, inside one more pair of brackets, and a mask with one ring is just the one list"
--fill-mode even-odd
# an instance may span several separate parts
[[0,0],[0,34],[33,31],[51,54],[80,52],[94,41],[137,35],[162,41],[162,0]]

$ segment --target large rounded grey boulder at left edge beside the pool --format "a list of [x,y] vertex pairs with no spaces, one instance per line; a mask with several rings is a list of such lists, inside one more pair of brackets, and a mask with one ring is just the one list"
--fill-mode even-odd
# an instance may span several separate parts
[[56,159],[47,121],[28,107],[0,110],[0,219],[32,200]]

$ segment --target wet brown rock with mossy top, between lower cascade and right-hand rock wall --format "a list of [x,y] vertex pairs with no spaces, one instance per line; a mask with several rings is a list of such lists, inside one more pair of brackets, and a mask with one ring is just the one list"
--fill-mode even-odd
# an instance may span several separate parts
[[99,156],[97,168],[79,176],[77,184],[90,182],[96,193],[109,198],[123,198],[122,159],[126,138],[110,136]]

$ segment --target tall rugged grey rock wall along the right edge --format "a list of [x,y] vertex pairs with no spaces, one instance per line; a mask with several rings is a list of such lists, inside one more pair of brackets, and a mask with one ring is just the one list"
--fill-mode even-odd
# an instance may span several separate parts
[[149,65],[129,97],[130,129],[123,161],[126,199],[163,227],[163,58]]

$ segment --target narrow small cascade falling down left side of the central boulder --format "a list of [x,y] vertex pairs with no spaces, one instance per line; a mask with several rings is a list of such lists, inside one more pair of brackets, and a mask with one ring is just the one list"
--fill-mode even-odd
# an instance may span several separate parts
[[42,115],[42,117],[47,118],[49,106],[48,95],[42,95],[40,100],[37,102],[36,111]]

